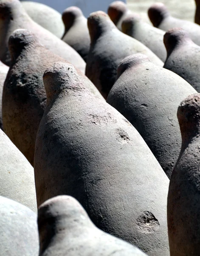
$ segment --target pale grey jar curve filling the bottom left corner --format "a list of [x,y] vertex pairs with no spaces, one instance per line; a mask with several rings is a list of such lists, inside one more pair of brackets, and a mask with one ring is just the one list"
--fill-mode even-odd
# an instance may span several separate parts
[[37,256],[37,215],[28,207],[2,196],[0,206],[0,256]]

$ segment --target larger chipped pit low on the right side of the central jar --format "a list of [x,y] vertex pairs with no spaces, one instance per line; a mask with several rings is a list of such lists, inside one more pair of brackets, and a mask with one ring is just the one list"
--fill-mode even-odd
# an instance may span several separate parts
[[138,229],[141,233],[154,233],[160,226],[152,212],[145,211],[137,218]]

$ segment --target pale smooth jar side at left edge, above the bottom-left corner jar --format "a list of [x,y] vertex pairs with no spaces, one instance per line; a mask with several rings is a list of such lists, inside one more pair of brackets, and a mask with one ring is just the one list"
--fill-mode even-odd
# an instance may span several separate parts
[[34,169],[0,130],[0,195],[37,212]]

